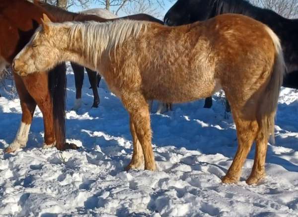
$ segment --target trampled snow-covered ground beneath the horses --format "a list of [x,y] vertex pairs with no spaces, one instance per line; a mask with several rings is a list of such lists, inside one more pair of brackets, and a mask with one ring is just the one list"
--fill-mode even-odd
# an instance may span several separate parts
[[[151,115],[157,171],[123,169],[132,156],[128,114],[101,82],[101,104],[92,108],[87,79],[83,106],[74,104],[68,71],[67,138],[79,150],[42,149],[43,121],[37,109],[28,145],[3,150],[15,137],[19,100],[0,98],[0,215],[47,216],[298,216],[298,92],[282,88],[276,145],[269,145],[267,177],[248,186],[254,148],[240,182],[221,183],[237,148],[236,131],[224,100],[212,109],[203,100]],[[154,109],[154,108],[153,108]],[[156,109],[156,104],[155,104]],[[226,117],[227,116],[227,117]]]

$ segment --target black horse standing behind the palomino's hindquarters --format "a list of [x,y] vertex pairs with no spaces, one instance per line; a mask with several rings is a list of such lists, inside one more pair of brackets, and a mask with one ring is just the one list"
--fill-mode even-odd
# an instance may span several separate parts
[[[250,16],[267,24],[279,36],[288,69],[283,86],[298,89],[298,19],[284,18],[246,0],[177,0],[165,14],[164,22],[171,26],[183,25],[224,13]],[[211,106],[212,98],[206,98],[205,107]]]

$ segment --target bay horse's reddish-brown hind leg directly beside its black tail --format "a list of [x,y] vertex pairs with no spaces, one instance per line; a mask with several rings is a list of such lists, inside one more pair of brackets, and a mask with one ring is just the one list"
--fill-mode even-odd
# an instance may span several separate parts
[[55,146],[52,98],[49,91],[48,73],[33,73],[22,77],[26,89],[40,108],[44,119],[44,147]]

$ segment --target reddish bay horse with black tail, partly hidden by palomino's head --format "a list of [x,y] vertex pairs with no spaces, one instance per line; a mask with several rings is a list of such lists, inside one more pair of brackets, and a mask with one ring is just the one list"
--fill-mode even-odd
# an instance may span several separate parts
[[[43,13],[47,13],[46,10],[27,0],[0,0],[0,66],[12,63],[30,40]],[[34,73],[28,77],[13,73],[22,119],[6,152],[26,146],[36,105],[44,118],[44,147],[56,145],[60,150],[70,147],[65,144],[65,72],[65,65],[60,65],[49,73]]]

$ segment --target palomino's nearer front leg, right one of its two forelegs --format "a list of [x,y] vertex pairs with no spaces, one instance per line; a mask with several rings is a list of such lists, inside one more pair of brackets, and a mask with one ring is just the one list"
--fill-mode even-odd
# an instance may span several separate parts
[[122,102],[131,115],[137,137],[141,143],[145,159],[145,169],[155,170],[156,165],[151,145],[148,103],[141,93],[125,93],[122,95]]

